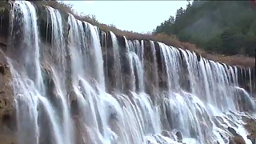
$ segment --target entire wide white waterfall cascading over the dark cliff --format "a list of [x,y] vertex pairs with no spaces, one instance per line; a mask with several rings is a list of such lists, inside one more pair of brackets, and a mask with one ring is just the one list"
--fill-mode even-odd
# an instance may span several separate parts
[[251,72],[248,94],[236,66],[161,42],[121,42],[46,11],[46,42],[34,5],[14,2],[10,13],[18,143],[228,143],[230,128],[251,143],[242,126],[256,110]]

